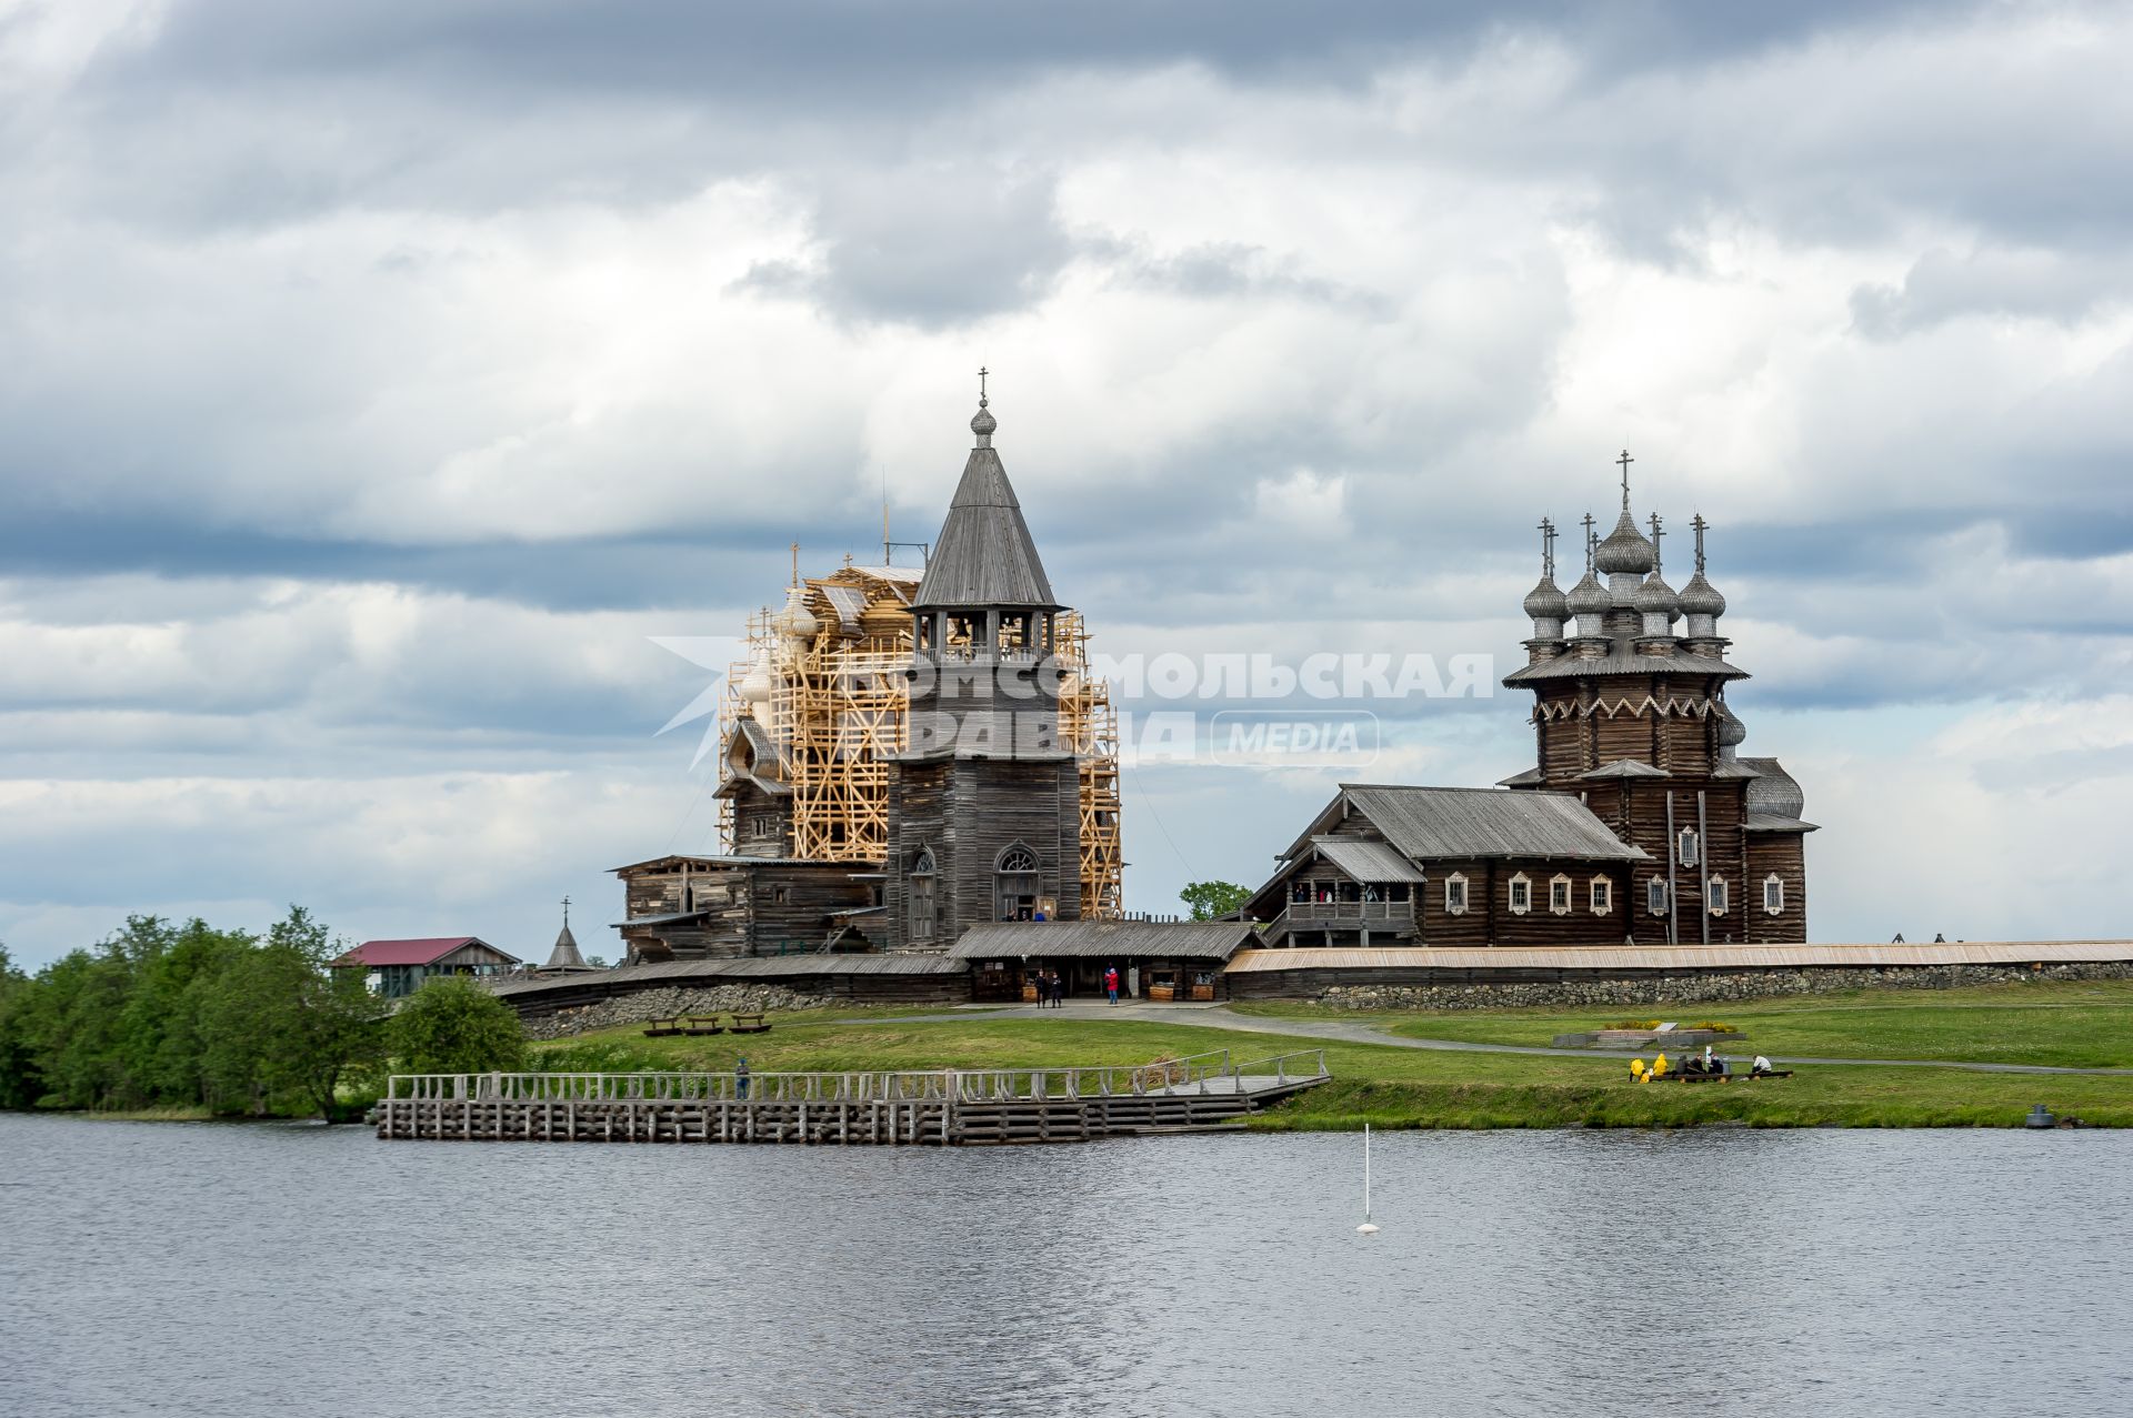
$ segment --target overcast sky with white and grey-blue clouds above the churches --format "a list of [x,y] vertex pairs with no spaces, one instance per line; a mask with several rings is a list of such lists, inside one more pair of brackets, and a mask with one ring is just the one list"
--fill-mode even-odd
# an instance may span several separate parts
[[[0,0],[0,940],[612,953],[653,638],[930,537],[979,362],[1113,655],[1508,672],[1630,446],[1815,938],[2124,934],[2133,11],[1416,9]],[[1128,906],[1337,776],[1128,772]]]

